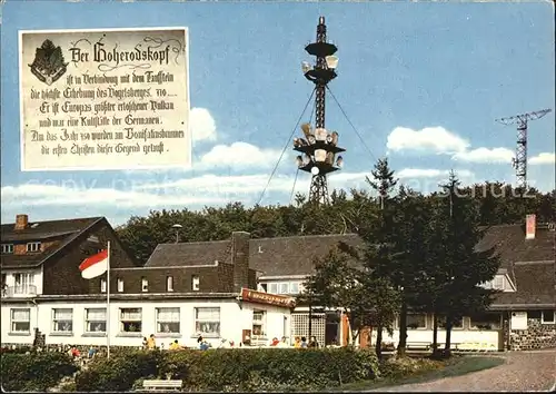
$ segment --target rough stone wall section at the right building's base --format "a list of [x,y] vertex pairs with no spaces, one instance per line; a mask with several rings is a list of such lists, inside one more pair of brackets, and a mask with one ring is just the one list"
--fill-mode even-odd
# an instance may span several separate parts
[[527,329],[513,329],[512,351],[533,351],[556,347],[556,324],[543,324],[540,318],[528,318]]

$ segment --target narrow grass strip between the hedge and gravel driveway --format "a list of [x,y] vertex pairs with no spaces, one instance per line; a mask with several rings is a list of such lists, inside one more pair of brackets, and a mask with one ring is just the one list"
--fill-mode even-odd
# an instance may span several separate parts
[[505,359],[495,356],[455,356],[445,361],[440,370],[417,372],[403,377],[386,377],[376,381],[355,382],[341,385],[334,391],[368,391],[387,386],[399,386],[403,384],[425,383],[444,377],[460,376],[471,372],[493,368],[502,365]]

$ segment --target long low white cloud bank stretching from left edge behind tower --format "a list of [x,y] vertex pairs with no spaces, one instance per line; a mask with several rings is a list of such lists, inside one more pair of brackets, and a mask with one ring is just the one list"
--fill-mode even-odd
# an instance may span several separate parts
[[[59,184],[34,181],[18,186],[3,186],[0,193],[2,219],[4,213],[10,210],[30,211],[33,207],[42,213],[38,216],[44,216],[44,209],[56,213],[68,207],[81,210],[87,207],[86,210],[90,216],[98,215],[100,210],[113,210],[122,216],[126,211],[137,210],[137,208],[142,208],[147,213],[150,208],[220,206],[229,201],[242,201],[250,205],[259,200],[268,179],[269,174],[205,175],[177,180],[158,179],[158,181],[140,178],[116,179],[105,187],[97,187],[95,181],[87,184],[76,180]],[[294,185],[296,193],[306,194],[309,189],[309,176],[302,175],[297,181],[294,175],[274,176],[266,189],[262,203],[268,201],[270,193],[278,193],[280,204],[288,204]],[[363,187],[364,181],[365,174],[363,173],[338,174],[330,177],[330,188],[358,188]],[[59,208],[52,209],[52,207]]]

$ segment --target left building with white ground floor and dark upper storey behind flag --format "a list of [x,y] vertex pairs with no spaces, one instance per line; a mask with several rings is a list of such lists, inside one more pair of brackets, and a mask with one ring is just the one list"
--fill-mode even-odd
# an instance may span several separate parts
[[[255,290],[248,234],[234,233],[210,259],[170,256],[160,245],[137,265],[105,218],[2,225],[2,345],[141,346],[178,339],[195,346],[201,335],[267,344],[289,336],[292,298]],[[110,242],[110,277],[83,279],[80,263]],[[169,262],[169,264],[163,264]],[[178,264],[179,263],[179,264]]]

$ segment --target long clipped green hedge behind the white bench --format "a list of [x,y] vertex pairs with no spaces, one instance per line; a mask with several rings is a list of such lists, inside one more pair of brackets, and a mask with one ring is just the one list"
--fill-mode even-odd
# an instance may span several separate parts
[[[177,378],[187,391],[255,392],[319,390],[378,373],[370,351],[215,349],[135,352],[89,364],[78,374],[77,391],[129,391],[145,378]],[[140,387],[137,387],[140,388]]]

